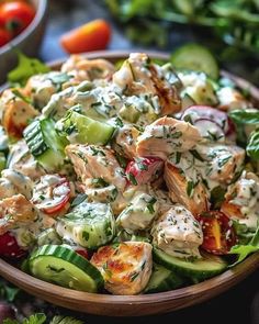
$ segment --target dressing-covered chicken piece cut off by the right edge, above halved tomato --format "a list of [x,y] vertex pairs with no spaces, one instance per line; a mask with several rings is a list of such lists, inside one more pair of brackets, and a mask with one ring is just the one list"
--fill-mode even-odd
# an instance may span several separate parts
[[228,187],[221,211],[256,230],[259,222],[259,178],[244,171],[240,179]]

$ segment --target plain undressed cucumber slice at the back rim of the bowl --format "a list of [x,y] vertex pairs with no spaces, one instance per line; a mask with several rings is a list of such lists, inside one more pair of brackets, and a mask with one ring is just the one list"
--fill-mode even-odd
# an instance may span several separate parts
[[219,76],[216,59],[206,47],[199,44],[193,43],[179,47],[172,53],[171,63],[177,69],[203,71],[214,80]]

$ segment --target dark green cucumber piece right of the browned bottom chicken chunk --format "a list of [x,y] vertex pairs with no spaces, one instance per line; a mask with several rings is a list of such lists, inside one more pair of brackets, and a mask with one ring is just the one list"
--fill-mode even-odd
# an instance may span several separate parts
[[161,292],[182,287],[185,280],[174,271],[154,264],[151,277],[145,288],[145,293]]

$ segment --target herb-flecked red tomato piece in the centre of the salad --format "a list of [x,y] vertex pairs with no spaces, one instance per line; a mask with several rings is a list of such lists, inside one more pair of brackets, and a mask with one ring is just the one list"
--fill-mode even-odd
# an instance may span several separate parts
[[159,157],[137,157],[126,167],[127,180],[135,186],[151,182],[161,175],[162,166]]

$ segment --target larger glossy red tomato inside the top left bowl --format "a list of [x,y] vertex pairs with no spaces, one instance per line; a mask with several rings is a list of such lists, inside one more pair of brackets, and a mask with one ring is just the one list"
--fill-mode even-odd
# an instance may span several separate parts
[[0,5],[0,21],[14,36],[20,34],[35,16],[35,9],[22,1],[3,2]]

